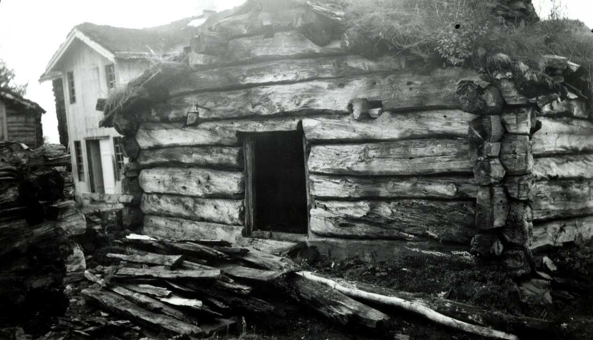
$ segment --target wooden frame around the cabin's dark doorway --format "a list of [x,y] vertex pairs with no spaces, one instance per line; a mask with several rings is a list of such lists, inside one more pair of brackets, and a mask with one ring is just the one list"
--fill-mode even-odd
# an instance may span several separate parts
[[[257,192],[255,188],[255,174],[256,174],[256,158],[255,158],[255,139],[254,134],[242,134],[243,140],[243,160],[244,160],[244,173],[245,173],[245,197],[244,197],[244,236],[256,237],[258,239],[276,239],[283,241],[305,241],[311,235],[311,208],[313,207],[313,199],[311,198],[310,181],[309,181],[309,169],[308,169],[308,142],[305,138],[305,134],[301,129],[298,131],[302,134],[302,151],[303,160],[305,167],[305,195],[307,195],[307,233],[296,234],[296,233],[282,233],[272,231],[259,231],[254,230],[257,219],[256,202]],[[268,131],[266,131],[268,132]],[[273,131],[272,131],[273,132]],[[283,132],[283,131],[278,131]],[[256,132],[257,134],[257,132]]]

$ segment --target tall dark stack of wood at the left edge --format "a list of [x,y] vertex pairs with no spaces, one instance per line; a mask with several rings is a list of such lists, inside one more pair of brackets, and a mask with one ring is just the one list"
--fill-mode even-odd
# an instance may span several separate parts
[[84,254],[68,239],[86,230],[68,164],[62,145],[0,142],[0,323],[62,314],[65,282],[84,274]]

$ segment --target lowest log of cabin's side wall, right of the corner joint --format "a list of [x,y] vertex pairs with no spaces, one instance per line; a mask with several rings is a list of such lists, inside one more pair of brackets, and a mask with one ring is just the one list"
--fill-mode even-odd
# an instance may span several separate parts
[[593,238],[593,216],[534,223],[531,249],[562,246],[569,242],[582,244],[591,238]]

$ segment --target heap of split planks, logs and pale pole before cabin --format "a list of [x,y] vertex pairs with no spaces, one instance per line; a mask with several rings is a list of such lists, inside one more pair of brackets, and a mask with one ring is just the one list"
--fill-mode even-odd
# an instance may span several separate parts
[[[226,332],[239,317],[282,313],[292,297],[342,325],[385,331],[398,309],[499,339],[546,333],[554,324],[438,297],[425,297],[302,271],[292,260],[221,240],[165,240],[131,234],[108,253],[110,266],[85,272],[82,294],[111,313],[170,335]],[[289,252],[290,250],[288,250]],[[498,328],[502,331],[497,331]],[[509,333],[508,333],[509,332]],[[512,333],[510,333],[512,332]]]

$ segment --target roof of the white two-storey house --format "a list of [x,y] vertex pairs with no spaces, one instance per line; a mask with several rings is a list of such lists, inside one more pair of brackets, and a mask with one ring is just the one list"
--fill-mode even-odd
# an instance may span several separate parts
[[[186,46],[199,29],[196,27],[196,21],[206,21],[209,14],[212,14],[212,11],[204,11],[199,16],[148,28],[123,28],[93,23],[76,25],[47,63],[39,81],[60,77],[54,68],[76,39],[86,43],[110,61],[114,61],[115,58],[145,58],[152,52],[167,55]],[[190,23],[192,25],[189,25]]]

